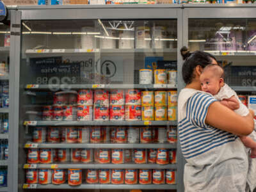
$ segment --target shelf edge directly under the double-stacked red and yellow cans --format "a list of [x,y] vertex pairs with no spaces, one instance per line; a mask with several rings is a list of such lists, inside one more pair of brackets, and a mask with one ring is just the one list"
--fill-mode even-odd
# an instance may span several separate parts
[[24,121],[24,125],[29,126],[84,126],[84,125],[177,125],[177,121]]

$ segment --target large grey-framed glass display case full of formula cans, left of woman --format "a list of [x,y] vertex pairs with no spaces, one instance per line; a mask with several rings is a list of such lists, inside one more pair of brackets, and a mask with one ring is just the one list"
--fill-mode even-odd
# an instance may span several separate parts
[[19,191],[182,191],[181,10],[158,9],[18,9]]

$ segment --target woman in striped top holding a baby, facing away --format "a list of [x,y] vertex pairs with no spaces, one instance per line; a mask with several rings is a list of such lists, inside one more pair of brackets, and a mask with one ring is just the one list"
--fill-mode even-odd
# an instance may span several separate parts
[[[202,69],[217,64],[207,52],[180,50],[186,87],[179,93],[180,147],[187,163],[185,191],[246,191],[248,156],[237,136],[253,131],[253,115],[239,116],[209,93],[201,92]],[[241,126],[243,125],[243,126]]]

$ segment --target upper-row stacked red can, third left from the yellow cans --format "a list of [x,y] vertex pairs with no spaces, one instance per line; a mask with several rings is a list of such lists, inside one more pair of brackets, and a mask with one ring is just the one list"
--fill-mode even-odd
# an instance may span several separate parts
[[94,91],[94,106],[95,107],[109,107],[109,93],[107,90]]

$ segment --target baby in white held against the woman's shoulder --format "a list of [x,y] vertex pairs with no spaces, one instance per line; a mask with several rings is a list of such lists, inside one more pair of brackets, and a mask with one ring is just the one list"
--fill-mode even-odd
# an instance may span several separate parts
[[[203,92],[211,93],[221,104],[234,110],[238,115],[246,116],[249,110],[239,100],[236,92],[224,83],[224,70],[219,65],[207,65],[200,75]],[[253,131],[250,136],[254,135]],[[251,158],[256,157],[256,142],[249,136],[239,136],[245,147],[251,148]]]

